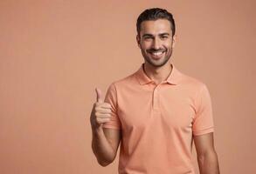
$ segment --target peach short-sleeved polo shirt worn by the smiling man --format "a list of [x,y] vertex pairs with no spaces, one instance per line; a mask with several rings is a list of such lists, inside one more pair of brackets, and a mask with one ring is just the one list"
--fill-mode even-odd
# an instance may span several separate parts
[[105,102],[121,130],[120,174],[194,174],[192,136],[213,132],[206,85],[176,69],[161,84],[143,70],[110,84]]

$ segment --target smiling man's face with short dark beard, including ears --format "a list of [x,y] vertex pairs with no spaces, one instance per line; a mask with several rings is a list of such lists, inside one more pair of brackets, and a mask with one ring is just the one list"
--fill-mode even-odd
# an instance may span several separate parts
[[161,67],[169,61],[175,37],[172,37],[170,21],[167,19],[143,21],[140,36],[137,35],[136,40],[145,62]]

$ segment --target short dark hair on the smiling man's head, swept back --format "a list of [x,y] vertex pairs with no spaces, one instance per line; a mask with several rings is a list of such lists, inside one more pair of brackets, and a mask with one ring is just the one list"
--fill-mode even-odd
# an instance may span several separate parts
[[175,22],[172,14],[167,10],[160,8],[152,8],[144,10],[137,19],[136,27],[137,33],[140,35],[141,23],[143,21],[156,21],[157,19],[167,19],[170,21],[170,28],[172,30],[172,36],[175,35]]

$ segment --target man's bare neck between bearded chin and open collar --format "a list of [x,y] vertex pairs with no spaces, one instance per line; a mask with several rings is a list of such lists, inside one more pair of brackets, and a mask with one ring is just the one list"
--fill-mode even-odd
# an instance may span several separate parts
[[170,62],[164,64],[161,67],[154,67],[147,62],[144,63],[143,70],[145,74],[152,79],[156,84],[161,84],[170,76],[172,65]]

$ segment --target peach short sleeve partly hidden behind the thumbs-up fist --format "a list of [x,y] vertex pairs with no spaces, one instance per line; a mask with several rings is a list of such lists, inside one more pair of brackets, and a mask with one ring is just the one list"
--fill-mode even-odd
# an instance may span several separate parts
[[104,102],[111,104],[111,118],[109,122],[102,124],[102,127],[120,130],[121,123],[117,114],[117,95],[114,84],[109,85]]

